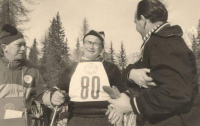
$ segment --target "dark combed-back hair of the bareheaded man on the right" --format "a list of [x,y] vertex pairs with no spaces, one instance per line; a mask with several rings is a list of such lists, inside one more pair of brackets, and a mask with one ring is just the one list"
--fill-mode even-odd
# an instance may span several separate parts
[[168,19],[168,11],[163,3],[159,0],[142,0],[137,6],[137,19],[141,19],[143,15],[152,23],[157,21],[166,22]]

